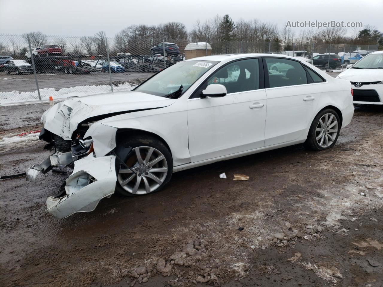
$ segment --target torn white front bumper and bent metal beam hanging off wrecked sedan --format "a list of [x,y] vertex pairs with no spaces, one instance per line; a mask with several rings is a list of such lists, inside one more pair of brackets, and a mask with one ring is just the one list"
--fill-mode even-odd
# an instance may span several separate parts
[[[71,154],[71,152],[69,152]],[[62,165],[67,154],[62,153],[62,160],[53,154],[39,165],[34,165],[26,171],[26,180],[36,182],[38,174],[46,173],[53,166]],[[65,180],[65,195],[47,198],[47,210],[59,219],[68,217],[76,212],[93,211],[98,202],[110,196],[116,188],[116,157],[94,157],[93,153],[74,162],[73,173]]]

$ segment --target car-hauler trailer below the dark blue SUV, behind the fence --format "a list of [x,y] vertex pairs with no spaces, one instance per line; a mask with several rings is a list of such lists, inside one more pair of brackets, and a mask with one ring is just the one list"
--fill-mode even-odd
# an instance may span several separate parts
[[[160,54],[156,55],[124,55],[111,57],[111,60],[117,61],[123,65],[126,72],[159,72],[165,67],[169,67],[177,62],[182,61],[181,57],[169,55],[164,57]],[[123,59],[123,61],[121,61]]]

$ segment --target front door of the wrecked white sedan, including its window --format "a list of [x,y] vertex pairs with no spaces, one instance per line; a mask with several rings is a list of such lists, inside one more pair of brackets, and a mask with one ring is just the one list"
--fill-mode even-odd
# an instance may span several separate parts
[[[201,98],[202,90],[214,83],[226,87],[226,96]],[[191,161],[263,147],[266,108],[260,58],[220,67],[187,102]]]

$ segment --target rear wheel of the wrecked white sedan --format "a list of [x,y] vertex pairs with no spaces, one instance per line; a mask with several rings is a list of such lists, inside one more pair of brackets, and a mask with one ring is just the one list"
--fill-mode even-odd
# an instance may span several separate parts
[[305,146],[311,150],[332,148],[339,137],[339,115],[334,109],[324,109],[314,118]]

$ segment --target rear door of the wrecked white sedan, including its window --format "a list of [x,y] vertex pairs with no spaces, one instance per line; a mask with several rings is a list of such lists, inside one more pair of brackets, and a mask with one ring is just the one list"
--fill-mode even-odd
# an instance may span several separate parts
[[[272,67],[282,64],[288,65],[286,72],[273,73]],[[309,83],[311,78],[298,60],[265,57],[264,67],[267,95],[265,146],[297,140],[309,124],[319,91]]]

